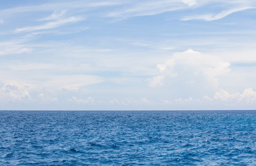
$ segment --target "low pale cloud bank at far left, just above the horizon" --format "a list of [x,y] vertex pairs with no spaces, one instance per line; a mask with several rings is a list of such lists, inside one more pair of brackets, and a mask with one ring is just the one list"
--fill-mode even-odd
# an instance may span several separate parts
[[[0,104],[33,103],[33,104],[60,104],[70,98],[70,95],[81,95],[86,91],[89,84],[102,82],[100,77],[94,75],[39,75],[34,80],[23,80],[19,78],[3,78],[0,86]],[[15,79],[16,78],[16,79]],[[37,80],[39,79],[39,80]],[[68,94],[68,95],[67,95]],[[71,95],[71,96],[72,96]],[[92,98],[73,98],[73,102],[92,102]]]

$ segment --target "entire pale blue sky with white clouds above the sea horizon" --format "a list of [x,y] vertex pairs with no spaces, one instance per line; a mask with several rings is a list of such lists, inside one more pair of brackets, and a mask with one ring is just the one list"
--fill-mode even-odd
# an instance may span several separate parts
[[0,110],[256,108],[256,0],[0,4]]

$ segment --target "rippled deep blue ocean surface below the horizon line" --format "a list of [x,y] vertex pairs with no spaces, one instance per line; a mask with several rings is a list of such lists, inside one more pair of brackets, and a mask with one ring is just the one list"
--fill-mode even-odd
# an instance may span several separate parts
[[0,111],[0,165],[256,165],[256,111]]

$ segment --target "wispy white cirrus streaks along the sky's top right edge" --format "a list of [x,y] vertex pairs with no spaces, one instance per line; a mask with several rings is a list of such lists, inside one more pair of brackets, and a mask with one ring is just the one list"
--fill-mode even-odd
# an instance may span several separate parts
[[[218,4],[219,7],[215,7],[214,4]],[[201,1],[201,0],[182,0],[182,1],[140,1],[135,3],[127,3],[129,8],[124,10],[113,10],[107,16],[108,17],[138,17],[148,15],[158,15],[163,12],[172,12],[175,10],[190,10],[195,8],[205,8],[205,6],[212,5],[212,8],[221,9],[219,12],[209,13],[208,10],[201,10],[199,15],[186,16],[181,19],[182,21],[188,21],[193,19],[214,21],[227,17],[234,12],[248,10],[256,7],[256,3],[253,0],[245,1]],[[122,7],[121,7],[122,8]],[[205,14],[205,12],[208,12]]]

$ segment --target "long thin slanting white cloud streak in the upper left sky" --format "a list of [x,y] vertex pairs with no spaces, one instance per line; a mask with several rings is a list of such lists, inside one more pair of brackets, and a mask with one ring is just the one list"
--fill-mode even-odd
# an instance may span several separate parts
[[82,17],[68,17],[66,19],[59,19],[57,21],[51,21],[41,26],[28,26],[26,28],[17,28],[15,30],[16,33],[21,32],[31,32],[35,30],[47,30],[57,28],[59,26],[63,26],[64,24],[76,23],[78,21],[82,21]]

